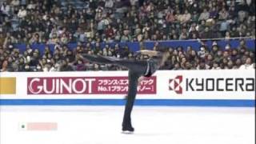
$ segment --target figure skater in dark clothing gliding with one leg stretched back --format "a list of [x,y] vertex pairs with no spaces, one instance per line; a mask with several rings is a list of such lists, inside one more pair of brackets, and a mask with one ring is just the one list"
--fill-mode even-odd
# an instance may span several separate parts
[[168,58],[165,52],[155,51],[155,50],[140,50],[136,54],[146,54],[150,58],[147,60],[137,60],[137,59],[122,59],[114,57],[103,57],[100,55],[82,54],[82,58],[86,58],[90,62],[100,63],[100,64],[113,64],[117,66],[125,66],[129,70],[129,88],[127,94],[127,101],[125,112],[122,121],[122,131],[133,132],[134,127],[131,125],[131,110],[134,106],[134,99],[137,94],[138,81],[141,81],[144,77],[150,77],[160,66],[166,62]]

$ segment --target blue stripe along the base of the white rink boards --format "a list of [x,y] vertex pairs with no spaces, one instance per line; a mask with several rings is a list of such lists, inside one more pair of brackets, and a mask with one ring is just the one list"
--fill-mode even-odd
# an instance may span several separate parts
[[[0,106],[124,106],[124,99],[0,99]],[[255,100],[231,99],[137,99],[135,106],[255,107]]]

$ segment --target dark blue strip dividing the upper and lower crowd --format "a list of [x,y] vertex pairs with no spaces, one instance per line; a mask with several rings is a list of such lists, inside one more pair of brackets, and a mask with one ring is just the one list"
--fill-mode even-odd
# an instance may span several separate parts
[[[208,48],[211,48],[211,46],[213,45],[213,40],[206,40],[204,41],[205,46],[207,46]],[[238,46],[240,45],[240,40],[239,39],[229,39],[229,40],[218,40],[215,41],[218,44],[218,47],[220,47],[221,49],[224,49],[224,47],[227,44],[230,44],[231,48],[238,48]],[[246,47],[249,50],[253,50],[255,51],[255,39],[245,39],[246,42]],[[156,42],[143,42],[142,45],[149,50],[152,50],[154,45]],[[183,50],[186,50],[186,48],[188,46],[191,46],[192,49],[194,50],[199,50],[200,47],[202,46],[202,41],[198,41],[198,40],[180,40],[180,41],[159,41],[159,46],[163,46],[163,47],[172,47],[172,48],[177,48],[178,46],[182,46]],[[101,48],[103,48],[106,45],[109,45],[110,47],[114,47],[116,44],[118,44],[120,47],[123,46],[128,46],[128,48],[130,49],[130,51],[138,51],[140,50],[141,47],[141,43],[140,42],[111,42],[111,43],[106,43],[106,42],[101,42],[100,46]],[[14,45],[16,48],[18,48],[21,52],[24,52],[26,50],[26,44],[16,44]],[[54,51],[54,44],[31,44],[30,47],[32,49],[38,49],[40,51],[40,54],[44,53],[44,49],[46,46],[49,46],[50,50]],[[67,46],[73,50],[74,48],[76,48],[78,46],[78,43],[69,43],[67,44]],[[91,44],[92,47],[95,46],[94,44]]]

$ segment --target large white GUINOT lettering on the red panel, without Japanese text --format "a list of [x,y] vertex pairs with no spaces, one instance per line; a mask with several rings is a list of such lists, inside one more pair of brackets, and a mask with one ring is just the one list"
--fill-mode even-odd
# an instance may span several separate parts
[[95,78],[28,78],[27,94],[91,94]]

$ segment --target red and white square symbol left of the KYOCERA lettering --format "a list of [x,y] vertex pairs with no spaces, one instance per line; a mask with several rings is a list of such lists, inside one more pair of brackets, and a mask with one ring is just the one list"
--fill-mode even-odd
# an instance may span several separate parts
[[177,94],[182,94],[182,75],[178,75],[173,79],[169,79],[169,90],[174,90]]

